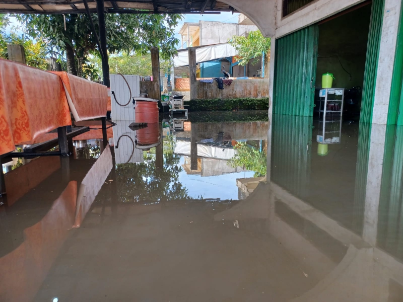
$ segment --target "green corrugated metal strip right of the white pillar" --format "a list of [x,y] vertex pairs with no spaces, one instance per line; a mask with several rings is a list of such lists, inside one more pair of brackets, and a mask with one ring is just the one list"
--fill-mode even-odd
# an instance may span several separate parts
[[400,8],[399,27],[394,56],[392,85],[390,88],[388,125],[403,125],[403,5]]

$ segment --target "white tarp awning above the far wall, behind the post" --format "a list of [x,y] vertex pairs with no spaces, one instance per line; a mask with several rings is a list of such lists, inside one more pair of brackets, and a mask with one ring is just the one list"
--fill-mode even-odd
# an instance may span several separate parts
[[[207,62],[214,59],[238,55],[238,51],[228,43],[214,44],[196,48],[196,63]],[[178,51],[178,56],[173,58],[175,67],[189,65],[188,51]]]

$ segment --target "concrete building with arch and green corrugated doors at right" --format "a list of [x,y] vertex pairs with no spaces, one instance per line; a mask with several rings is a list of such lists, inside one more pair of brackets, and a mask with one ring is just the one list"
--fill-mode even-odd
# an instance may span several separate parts
[[[403,100],[401,0],[225,3],[247,16],[264,36],[272,38],[270,111],[312,116],[314,88],[320,87],[318,73],[343,66],[347,71],[344,74],[333,72],[340,73],[335,77],[338,86],[350,88],[362,83],[360,121],[403,124],[398,110]],[[342,36],[349,38],[341,39]]]

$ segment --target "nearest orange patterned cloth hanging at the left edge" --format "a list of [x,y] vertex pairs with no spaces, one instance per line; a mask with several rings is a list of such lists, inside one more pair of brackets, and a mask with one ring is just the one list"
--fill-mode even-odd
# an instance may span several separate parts
[[0,59],[0,155],[71,124],[64,88],[56,74]]

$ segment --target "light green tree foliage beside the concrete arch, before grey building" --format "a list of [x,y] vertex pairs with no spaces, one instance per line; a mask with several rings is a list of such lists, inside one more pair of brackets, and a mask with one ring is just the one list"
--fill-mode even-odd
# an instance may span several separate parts
[[[250,32],[247,37],[233,36],[228,43],[239,51],[239,56],[236,60],[239,65],[246,65],[251,58],[257,58],[264,52],[266,55],[270,53],[271,39],[264,38],[259,30]],[[252,61],[256,64],[258,60]]]

